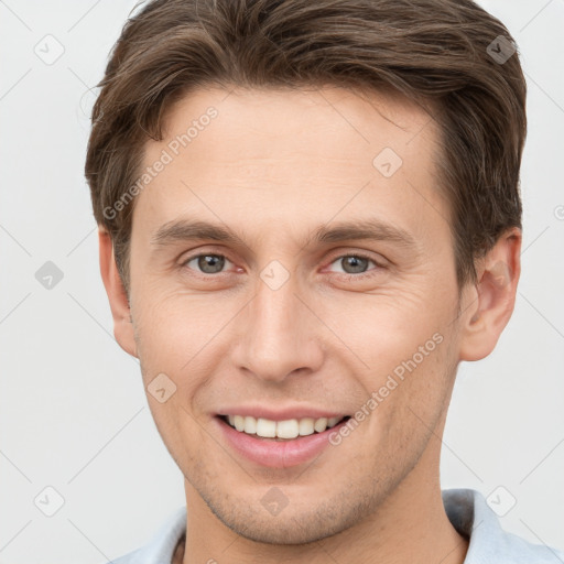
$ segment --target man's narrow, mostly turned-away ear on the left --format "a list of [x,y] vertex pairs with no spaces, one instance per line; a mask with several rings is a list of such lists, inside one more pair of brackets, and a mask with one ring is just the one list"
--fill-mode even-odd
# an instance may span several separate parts
[[100,247],[100,273],[110,302],[111,315],[113,317],[113,335],[119,346],[126,352],[137,357],[137,345],[128,296],[116,264],[110,235],[101,226],[98,228],[98,241]]

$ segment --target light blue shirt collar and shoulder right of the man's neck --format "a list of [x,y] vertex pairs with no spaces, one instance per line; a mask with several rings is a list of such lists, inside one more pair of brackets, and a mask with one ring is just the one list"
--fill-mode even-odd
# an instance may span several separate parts
[[564,552],[506,532],[484,496],[471,489],[443,490],[453,527],[469,539],[465,564],[563,564]]

